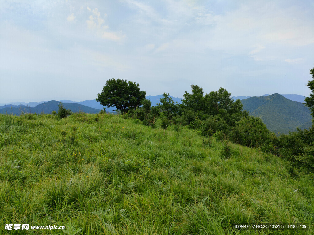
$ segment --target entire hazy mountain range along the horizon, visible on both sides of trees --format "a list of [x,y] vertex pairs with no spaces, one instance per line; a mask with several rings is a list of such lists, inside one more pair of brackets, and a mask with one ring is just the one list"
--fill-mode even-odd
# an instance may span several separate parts
[[[175,102],[182,103],[181,98],[170,96]],[[152,102],[152,106],[160,103],[162,95],[147,96]],[[295,94],[265,94],[260,97],[232,97],[234,100],[240,99],[243,104],[243,109],[250,112],[250,115],[260,117],[266,124],[267,128],[274,133],[288,133],[295,131],[296,128],[308,129],[311,127],[311,113],[307,107],[301,102],[304,102],[304,96]],[[71,109],[72,112],[87,112],[98,113],[103,106],[95,100],[85,100],[75,102],[71,100],[61,101],[42,101],[42,102],[12,102],[6,106],[0,106],[0,113],[12,113],[20,115],[24,113],[51,113],[58,111],[59,102],[64,104],[64,107]],[[1,104],[0,104],[1,105]],[[106,107],[107,112],[113,112],[115,107]]]

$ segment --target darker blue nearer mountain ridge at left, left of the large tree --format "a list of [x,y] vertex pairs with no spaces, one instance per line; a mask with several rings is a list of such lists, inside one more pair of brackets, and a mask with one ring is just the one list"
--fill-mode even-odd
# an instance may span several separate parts
[[[51,113],[52,111],[58,111],[59,110],[59,101],[48,101],[41,103],[37,105],[36,107],[28,107],[24,105],[20,106],[14,106],[11,107],[0,107],[0,113],[8,113],[8,114],[14,114],[14,115],[20,115],[21,113]],[[86,113],[98,113],[100,112],[100,109],[91,108],[85,105],[77,104],[77,103],[63,103],[64,107],[66,109],[70,109],[72,112],[86,112]]]

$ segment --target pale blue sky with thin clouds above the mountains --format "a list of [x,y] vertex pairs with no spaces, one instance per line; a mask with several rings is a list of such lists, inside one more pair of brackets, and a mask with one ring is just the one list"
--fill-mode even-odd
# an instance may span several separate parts
[[0,103],[97,97],[115,78],[155,96],[308,96],[313,0],[1,0]]

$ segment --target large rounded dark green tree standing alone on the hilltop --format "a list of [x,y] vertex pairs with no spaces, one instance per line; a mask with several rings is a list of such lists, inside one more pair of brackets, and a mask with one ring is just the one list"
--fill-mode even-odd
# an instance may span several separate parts
[[146,97],[146,91],[140,91],[138,86],[133,81],[112,78],[106,81],[106,86],[97,94],[96,101],[125,113],[139,107]]

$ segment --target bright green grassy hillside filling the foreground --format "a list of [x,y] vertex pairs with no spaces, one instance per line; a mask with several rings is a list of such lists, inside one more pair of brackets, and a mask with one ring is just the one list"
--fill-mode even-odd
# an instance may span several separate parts
[[[172,128],[121,115],[0,115],[1,224],[65,226],[9,234],[313,234],[311,176]],[[261,222],[310,227],[231,230]]]

